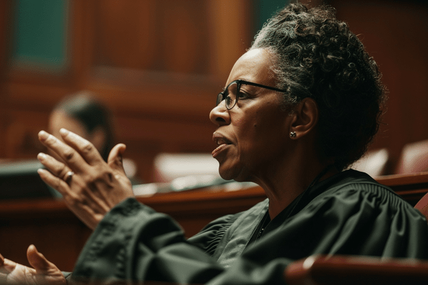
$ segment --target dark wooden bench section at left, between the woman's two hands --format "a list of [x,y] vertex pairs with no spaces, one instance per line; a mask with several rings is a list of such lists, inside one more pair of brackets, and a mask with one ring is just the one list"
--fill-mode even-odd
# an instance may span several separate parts
[[29,266],[26,249],[39,252],[64,271],[72,271],[91,230],[61,200],[1,201],[0,253]]

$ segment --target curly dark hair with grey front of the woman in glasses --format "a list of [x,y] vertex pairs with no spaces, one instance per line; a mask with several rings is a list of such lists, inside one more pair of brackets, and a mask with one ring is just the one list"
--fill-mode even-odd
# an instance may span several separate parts
[[367,150],[379,129],[386,98],[381,74],[335,9],[290,4],[265,23],[250,49],[267,48],[284,105],[317,102],[317,142],[343,170]]

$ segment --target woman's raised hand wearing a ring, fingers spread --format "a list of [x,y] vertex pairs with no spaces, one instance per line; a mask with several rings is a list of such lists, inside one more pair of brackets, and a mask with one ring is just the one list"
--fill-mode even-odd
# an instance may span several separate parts
[[131,182],[122,165],[126,146],[113,147],[106,163],[88,140],[65,129],[60,133],[65,143],[43,130],[39,133],[39,140],[62,160],[40,153],[37,158],[47,170],[39,170],[39,175],[61,192],[82,222],[95,229],[116,204],[133,197]]

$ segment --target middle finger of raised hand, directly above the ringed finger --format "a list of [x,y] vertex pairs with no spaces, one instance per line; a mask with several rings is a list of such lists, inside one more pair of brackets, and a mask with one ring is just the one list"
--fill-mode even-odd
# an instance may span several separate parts
[[54,135],[50,135],[44,130],[39,132],[39,140],[50,150],[56,152],[56,154],[61,157],[61,159],[66,162],[68,167],[72,168],[73,171],[86,171],[88,164],[83,159],[83,157],[81,157],[81,155],[73,149],[73,147],[66,145],[65,143],[61,142],[61,140],[58,140],[58,138],[55,138]]

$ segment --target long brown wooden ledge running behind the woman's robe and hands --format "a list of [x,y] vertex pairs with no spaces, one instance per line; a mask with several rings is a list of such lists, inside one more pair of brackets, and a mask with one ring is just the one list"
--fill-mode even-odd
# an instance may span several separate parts
[[[416,204],[428,192],[428,172],[378,177],[377,180],[411,204]],[[190,237],[213,219],[244,211],[266,196],[261,187],[237,191],[217,187],[137,199],[176,219],[185,235]],[[71,271],[90,234],[91,230],[61,199],[0,201],[0,253],[19,263],[28,264],[26,248],[35,244],[61,270]]]

